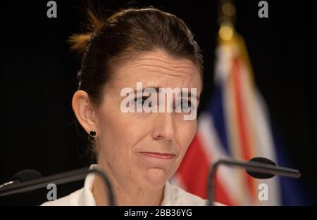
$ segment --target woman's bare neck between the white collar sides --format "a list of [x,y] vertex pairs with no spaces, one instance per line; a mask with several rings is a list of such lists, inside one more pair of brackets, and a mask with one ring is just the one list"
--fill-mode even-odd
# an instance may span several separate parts
[[[163,201],[163,188],[158,190],[144,190],[135,184],[125,181],[117,181],[110,172],[107,172],[113,186],[113,194],[116,205],[161,205]],[[96,175],[92,194],[96,205],[109,205],[108,192],[102,179]]]

